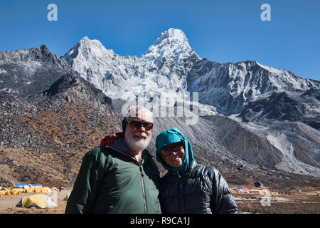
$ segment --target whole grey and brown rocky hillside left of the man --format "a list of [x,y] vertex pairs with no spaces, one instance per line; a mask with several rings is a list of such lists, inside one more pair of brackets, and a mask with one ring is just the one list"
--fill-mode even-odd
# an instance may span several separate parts
[[85,152],[120,130],[112,100],[46,46],[0,56],[0,158],[16,170],[11,182],[73,185]]

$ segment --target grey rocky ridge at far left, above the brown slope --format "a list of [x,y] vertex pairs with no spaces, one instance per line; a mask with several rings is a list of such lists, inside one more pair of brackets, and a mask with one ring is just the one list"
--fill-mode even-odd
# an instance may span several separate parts
[[[12,97],[26,105],[36,102],[43,90],[71,71],[68,63],[46,46],[0,52],[0,68],[0,91],[6,93],[1,98]],[[4,101],[10,103],[10,99]]]

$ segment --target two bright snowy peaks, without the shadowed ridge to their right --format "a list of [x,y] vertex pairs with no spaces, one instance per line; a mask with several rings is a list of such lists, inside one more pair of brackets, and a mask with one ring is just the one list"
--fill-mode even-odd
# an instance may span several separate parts
[[64,58],[82,78],[111,98],[186,92],[186,75],[201,58],[181,30],[170,28],[141,57],[119,56],[97,40],[85,37]]

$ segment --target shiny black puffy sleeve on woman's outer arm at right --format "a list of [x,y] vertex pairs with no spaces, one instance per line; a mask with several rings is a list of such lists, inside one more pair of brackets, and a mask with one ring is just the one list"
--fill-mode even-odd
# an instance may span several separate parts
[[215,214],[238,214],[238,207],[233,199],[233,195],[230,192],[230,188],[220,175],[218,170],[215,170],[213,177],[213,196],[211,200],[215,205],[213,207],[213,213]]

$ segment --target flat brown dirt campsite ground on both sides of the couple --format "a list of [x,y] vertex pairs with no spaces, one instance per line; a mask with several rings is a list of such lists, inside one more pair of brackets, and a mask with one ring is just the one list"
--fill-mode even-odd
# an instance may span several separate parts
[[[71,190],[58,192],[58,207],[46,209],[15,207],[23,196],[35,193],[2,196],[0,197],[0,214],[63,214],[67,204],[63,198],[70,192]],[[257,194],[234,193],[233,197],[238,204],[240,214],[320,214],[320,196],[314,192],[272,195],[267,201],[264,195]]]

